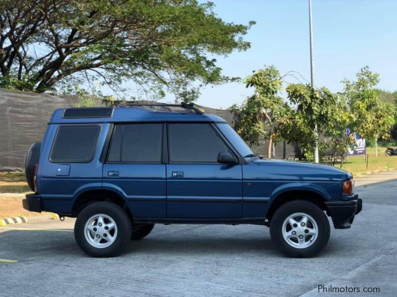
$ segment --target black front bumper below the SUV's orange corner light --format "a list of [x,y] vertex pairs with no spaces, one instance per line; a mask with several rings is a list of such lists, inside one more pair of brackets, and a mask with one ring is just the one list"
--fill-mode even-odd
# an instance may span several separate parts
[[328,201],[327,214],[332,218],[335,229],[348,229],[353,223],[354,216],[358,214],[363,207],[363,202],[358,195],[354,195],[348,201]]

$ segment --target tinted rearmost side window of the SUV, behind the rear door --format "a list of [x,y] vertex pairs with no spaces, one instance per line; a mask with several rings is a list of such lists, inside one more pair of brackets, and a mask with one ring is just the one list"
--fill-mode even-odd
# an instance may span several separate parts
[[52,162],[89,162],[98,139],[99,126],[63,126],[58,129]]

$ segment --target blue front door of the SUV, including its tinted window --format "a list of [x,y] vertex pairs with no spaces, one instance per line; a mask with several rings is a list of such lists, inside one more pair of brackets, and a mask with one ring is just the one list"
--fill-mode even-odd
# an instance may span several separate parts
[[168,150],[168,218],[242,217],[242,168],[217,163],[230,149],[211,124],[168,124]]

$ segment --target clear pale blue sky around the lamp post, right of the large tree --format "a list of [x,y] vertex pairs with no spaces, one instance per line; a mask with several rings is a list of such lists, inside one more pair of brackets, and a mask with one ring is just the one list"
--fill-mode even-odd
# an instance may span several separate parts
[[[245,77],[274,65],[281,74],[294,70],[310,80],[308,0],[213,2],[227,22],[257,22],[245,36],[251,49],[218,58],[225,75]],[[312,7],[316,86],[341,91],[344,77],[354,79],[368,65],[380,74],[379,88],[397,90],[397,0],[312,0]],[[252,93],[242,83],[209,86],[197,103],[227,108]]]

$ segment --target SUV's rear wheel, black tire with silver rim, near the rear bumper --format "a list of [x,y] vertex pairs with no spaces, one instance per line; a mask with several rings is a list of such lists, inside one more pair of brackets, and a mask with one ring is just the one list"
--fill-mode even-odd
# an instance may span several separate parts
[[92,257],[117,256],[131,238],[131,220],[115,203],[94,202],[77,216],[74,238],[77,245]]

